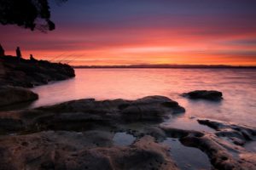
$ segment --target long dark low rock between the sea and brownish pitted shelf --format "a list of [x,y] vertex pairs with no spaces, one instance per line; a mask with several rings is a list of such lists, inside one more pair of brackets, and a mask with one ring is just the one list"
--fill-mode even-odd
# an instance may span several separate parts
[[12,119],[21,122],[22,131],[84,131],[96,128],[117,129],[120,124],[128,122],[162,122],[168,116],[184,111],[176,101],[163,96],[148,96],[137,100],[80,99],[31,111],[2,114],[0,120],[4,118],[9,122]]

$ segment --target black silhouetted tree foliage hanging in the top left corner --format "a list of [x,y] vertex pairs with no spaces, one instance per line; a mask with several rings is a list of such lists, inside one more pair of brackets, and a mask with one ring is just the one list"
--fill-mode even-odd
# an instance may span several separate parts
[[[57,3],[67,0],[55,0]],[[48,0],[0,0],[0,23],[17,25],[32,31],[52,31]]]

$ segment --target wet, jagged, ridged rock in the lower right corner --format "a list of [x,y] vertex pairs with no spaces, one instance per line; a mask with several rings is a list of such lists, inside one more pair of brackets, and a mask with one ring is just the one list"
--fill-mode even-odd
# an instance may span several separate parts
[[241,143],[247,144],[255,140],[256,128],[210,120],[198,122],[218,131],[203,133],[173,127],[161,127],[161,129],[166,132],[167,136],[178,138],[182,144],[205,152],[216,169],[256,169],[256,153],[241,147]]

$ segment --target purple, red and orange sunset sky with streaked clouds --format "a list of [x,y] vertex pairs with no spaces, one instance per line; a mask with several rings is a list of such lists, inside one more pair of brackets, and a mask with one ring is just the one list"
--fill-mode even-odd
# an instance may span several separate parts
[[6,54],[70,65],[256,65],[255,0],[69,0],[55,31],[0,26]]

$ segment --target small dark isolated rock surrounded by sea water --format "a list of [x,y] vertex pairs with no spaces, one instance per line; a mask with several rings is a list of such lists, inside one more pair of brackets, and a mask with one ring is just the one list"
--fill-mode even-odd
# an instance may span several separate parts
[[182,94],[183,97],[188,97],[189,99],[207,99],[207,100],[220,100],[222,98],[222,93],[215,90],[195,90],[189,93]]

